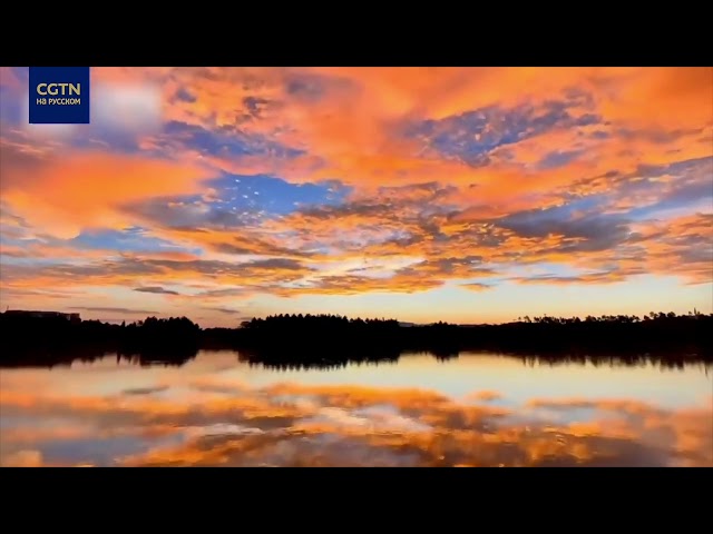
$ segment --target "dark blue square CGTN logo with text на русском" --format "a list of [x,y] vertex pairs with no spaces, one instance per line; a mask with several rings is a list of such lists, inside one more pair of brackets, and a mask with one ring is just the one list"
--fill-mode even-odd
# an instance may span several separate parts
[[89,67],[30,67],[30,125],[88,125]]

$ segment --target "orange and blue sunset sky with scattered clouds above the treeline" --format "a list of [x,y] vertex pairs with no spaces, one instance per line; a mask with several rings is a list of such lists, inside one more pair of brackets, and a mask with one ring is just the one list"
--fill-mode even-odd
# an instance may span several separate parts
[[713,312],[713,68],[0,70],[0,306],[404,322]]

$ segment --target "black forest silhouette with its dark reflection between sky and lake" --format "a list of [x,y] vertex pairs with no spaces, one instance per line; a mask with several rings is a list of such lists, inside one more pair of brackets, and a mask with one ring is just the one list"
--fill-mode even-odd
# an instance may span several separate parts
[[713,314],[651,313],[644,317],[522,317],[498,325],[404,326],[395,319],[338,315],[273,315],[235,328],[201,328],[186,317],[120,325],[66,317],[0,314],[0,366],[51,366],[109,354],[139,364],[182,365],[201,349],[233,349],[248,363],[279,368],[393,363],[422,352],[437,358],[467,350],[537,356],[550,362],[644,359],[678,365],[713,362]]

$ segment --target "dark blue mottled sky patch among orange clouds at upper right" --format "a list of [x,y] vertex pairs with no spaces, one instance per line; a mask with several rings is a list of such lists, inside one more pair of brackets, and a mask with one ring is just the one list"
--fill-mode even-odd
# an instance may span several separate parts
[[458,158],[469,165],[488,162],[488,152],[555,128],[573,128],[600,123],[593,113],[575,115],[570,108],[579,106],[579,97],[551,100],[543,107],[518,106],[502,109],[497,106],[467,111],[439,120],[408,125],[404,135],[420,138],[436,152]]

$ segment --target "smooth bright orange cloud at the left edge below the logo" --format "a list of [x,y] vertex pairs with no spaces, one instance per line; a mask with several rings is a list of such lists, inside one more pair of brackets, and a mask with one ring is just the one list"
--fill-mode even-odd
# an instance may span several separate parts
[[3,201],[33,226],[65,238],[82,228],[130,225],[120,206],[198,192],[201,180],[211,176],[192,162],[101,152],[53,154],[27,165],[10,154],[1,161]]

